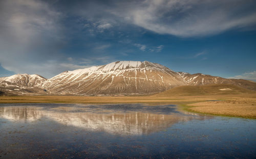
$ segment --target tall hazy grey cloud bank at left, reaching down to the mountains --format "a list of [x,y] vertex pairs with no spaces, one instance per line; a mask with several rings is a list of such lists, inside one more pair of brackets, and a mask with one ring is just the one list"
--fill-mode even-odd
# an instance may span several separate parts
[[58,59],[62,63],[71,60],[58,52],[65,44],[59,24],[62,14],[49,4],[35,0],[0,1],[0,15],[3,68],[49,77],[62,70]]

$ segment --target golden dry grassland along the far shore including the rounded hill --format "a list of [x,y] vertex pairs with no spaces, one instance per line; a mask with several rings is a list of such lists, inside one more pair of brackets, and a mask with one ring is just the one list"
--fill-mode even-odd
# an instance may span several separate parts
[[232,85],[181,86],[148,96],[0,96],[0,103],[177,104],[186,111],[256,119],[256,92]]

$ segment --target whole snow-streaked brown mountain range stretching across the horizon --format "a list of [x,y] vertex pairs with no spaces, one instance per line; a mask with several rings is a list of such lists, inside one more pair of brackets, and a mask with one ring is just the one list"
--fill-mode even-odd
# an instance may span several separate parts
[[148,61],[118,61],[107,65],[62,72],[50,79],[39,75],[16,74],[0,78],[3,94],[148,94],[177,86],[230,84],[256,90],[256,83],[226,79],[202,73],[175,72]]

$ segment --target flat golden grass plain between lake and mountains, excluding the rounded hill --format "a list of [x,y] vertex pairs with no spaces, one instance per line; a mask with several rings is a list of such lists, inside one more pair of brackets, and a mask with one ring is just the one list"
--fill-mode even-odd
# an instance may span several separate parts
[[177,104],[181,110],[256,119],[256,94],[198,96],[0,96],[0,103]]

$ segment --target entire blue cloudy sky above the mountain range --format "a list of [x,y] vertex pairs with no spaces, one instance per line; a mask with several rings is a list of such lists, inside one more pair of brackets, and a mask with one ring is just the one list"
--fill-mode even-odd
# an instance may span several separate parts
[[256,81],[254,0],[0,0],[0,76],[114,61]]

